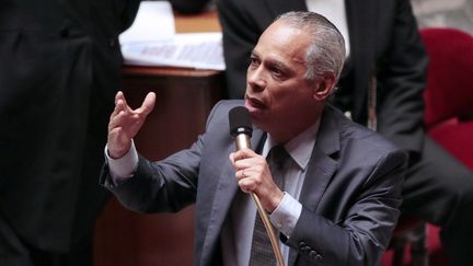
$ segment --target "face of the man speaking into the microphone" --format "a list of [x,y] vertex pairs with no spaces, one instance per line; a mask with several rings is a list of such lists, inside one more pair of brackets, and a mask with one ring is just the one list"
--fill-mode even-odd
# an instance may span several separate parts
[[313,109],[315,82],[304,79],[309,44],[305,32],[281,21],[259,37],[247,68],[245,107],[263,130],[298,128],[300,117]]

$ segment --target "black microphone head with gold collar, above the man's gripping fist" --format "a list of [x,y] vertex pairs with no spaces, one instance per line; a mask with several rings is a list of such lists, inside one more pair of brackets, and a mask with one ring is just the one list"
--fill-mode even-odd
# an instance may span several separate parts
[[250,112],[243,106],[236,106],[229,112],[230,135],[235,140],[236,150],[251,149],[250,139],[253,127],[250,119]]

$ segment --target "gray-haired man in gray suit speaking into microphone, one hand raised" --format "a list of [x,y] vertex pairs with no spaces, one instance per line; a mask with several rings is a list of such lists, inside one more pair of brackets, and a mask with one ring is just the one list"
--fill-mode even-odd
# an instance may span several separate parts
[[[376,265],[400,213],[406,154],[325,107],[344,59],[343,37],[325,18],[282,15],[252,51],[245,101],[218,103],[189,149],[158,162],[132,144],[155,95],[131,109],[118,93],[101,183],[140,212],[196,204],[194,265],[261,265],[249,193],[270,213],[286,265]],[[243,104],[255,151],[234,152],[228,113]],[[279,172],[266,161],[274,146],[289,153]],[[285,182],[276,185],[276,175]]]

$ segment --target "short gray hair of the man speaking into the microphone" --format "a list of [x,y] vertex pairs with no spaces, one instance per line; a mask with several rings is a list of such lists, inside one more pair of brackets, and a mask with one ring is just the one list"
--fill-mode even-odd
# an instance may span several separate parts
[[308,81],[327,73],[333,73],[335,82],[338,81],[345,61],[345,41],[332,22],[323,15],[307,11],[287,12],[279,15],[276,21],[308,31],[312,35],[305,55]]

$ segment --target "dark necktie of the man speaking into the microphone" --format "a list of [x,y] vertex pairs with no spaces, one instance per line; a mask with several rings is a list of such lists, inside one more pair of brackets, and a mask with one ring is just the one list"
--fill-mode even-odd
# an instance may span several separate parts
[[[284,188],[282,169],[288,157],[289,154],[282,146],[273,147],[267,157],[273,177],[281,189]],[[266,233],[266,228],[264,227],[259,215],[256,213],[249,266],[275,265],[276,257],[273,253],[269,236]]]

